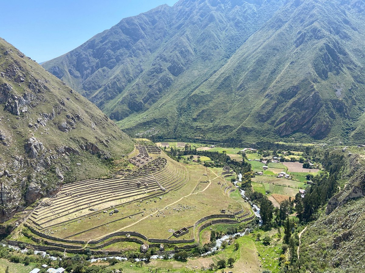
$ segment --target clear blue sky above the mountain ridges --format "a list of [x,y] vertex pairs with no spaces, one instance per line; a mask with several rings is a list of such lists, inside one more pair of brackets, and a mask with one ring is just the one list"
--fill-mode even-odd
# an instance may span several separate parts
[[0,37],[44,62],[73,50],[125,17],[177,0],[2,1]]

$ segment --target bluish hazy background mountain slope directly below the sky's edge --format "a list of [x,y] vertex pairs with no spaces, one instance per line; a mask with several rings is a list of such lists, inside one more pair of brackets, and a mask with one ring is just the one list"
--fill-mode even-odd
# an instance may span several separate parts
[[[123,19],[42,64],[121,120],[184,98],[217,71],[284,0],[181,0]],[[171,110],[176,115],[176,107]]]

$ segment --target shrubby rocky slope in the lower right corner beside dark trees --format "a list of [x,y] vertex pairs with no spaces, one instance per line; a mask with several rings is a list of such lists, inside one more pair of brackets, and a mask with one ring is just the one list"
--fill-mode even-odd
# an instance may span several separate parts
[[[353,155],[352,155],[353,153]],[[301,237],[300,265],[310,272],[364,272],[364,148],[351,147],[343,164],[345,186],[328,202],[326,213]]]

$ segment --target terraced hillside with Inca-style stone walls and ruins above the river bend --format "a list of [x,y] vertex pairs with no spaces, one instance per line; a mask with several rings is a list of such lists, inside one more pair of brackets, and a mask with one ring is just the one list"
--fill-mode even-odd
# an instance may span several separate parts
[[[136,146],[135,157],[145,146]],[[138,150],[138,151],[137,151]],[[147,149],[154,152],[154,149]],[[200,164],[184,165],[159,150],[145,165],[111,179],[88,179],[65,185],[44,198],[11,240],[81,252],[119,241],[138,244],[199,242],[202,229],[214,223],[241,223],[254,218],[236,189],[223,176]],[[183,230],[181,236],[174,236]],[[39,241],[42,239],[42,242]],[[79,249],[79,250],[77,250]]]

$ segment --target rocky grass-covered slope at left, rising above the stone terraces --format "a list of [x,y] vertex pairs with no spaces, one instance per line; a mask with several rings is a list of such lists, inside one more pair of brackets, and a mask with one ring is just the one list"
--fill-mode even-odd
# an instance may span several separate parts
[[62,183],[108,174],[133,141],[95,105],[0,38],[0,221]]

